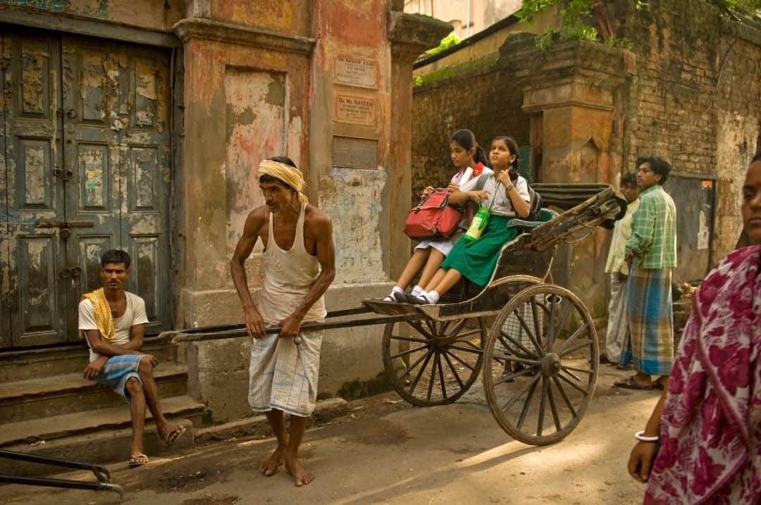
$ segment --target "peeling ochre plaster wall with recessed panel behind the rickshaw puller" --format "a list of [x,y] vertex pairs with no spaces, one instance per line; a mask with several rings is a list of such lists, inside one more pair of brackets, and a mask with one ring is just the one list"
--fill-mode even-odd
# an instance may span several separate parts
[[[310,173],[302,127],[308,122],[307,65],[306,56],[293,53],[209,40],[186,44],[183,193],[193,198],[185,204],[185,289],[232,287],[235,243],[248,212],[261,204],[255,167],[263,157],[285,152]],[[257,262],[255,254],[248,262],[252,272]],[[193,313],[186,309],[179,326]]]

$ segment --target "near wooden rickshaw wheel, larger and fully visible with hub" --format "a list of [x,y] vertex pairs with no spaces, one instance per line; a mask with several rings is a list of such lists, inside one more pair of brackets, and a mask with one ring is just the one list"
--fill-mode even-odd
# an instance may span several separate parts
[[553,284],[511,297],[484,347],[486,402],[511,437],[532,445],[565,438],[594,394],[597,331],[587,308]]

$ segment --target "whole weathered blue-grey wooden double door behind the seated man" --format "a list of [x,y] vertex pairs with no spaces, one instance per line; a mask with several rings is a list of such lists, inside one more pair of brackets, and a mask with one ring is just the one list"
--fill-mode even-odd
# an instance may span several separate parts
[[169,59],[36,30],[2,34],[0,348],[79,339],[100,256],[132,256],[148,333],[170,328]]

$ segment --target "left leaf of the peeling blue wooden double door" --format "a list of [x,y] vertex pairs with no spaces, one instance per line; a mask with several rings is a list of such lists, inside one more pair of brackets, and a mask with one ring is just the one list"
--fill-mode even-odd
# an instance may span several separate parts
[[10,345],[65,340],[65,218],[60,106],[60,46],[54,37],[3,35],[3,115],[8,253],[2,287],[10,313]]

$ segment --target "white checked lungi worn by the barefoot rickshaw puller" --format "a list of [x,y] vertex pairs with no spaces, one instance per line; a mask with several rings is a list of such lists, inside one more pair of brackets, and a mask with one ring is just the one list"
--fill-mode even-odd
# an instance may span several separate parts
[[275,408],[303,418],[314,411],[323,332],[299,335],[300,345],[295,345],[292,337],[279,335],[253,341],[248,388],[251,410]]

